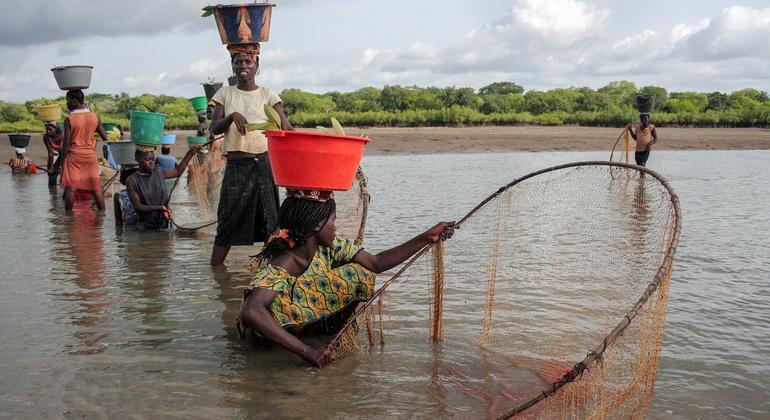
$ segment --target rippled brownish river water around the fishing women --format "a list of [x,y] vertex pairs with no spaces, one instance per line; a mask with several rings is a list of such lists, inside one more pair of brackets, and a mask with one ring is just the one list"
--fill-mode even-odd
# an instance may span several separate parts
[[[367,247],[456,219],[517,176],[604,152],[373,156]],[[770,416],[770,152],[653,153],[679,194],[651,418]],[[0,172],[0,417],[427,416],[367,354],[317,370],[233,329],[246,257],[212,236],[116,229],[111,203],[64,215],[46,177]],[[440,203],[440,204],[439,204]],[[409,361],[403,361],[407,365]],[[483,415],[483,414],[479,414]]]

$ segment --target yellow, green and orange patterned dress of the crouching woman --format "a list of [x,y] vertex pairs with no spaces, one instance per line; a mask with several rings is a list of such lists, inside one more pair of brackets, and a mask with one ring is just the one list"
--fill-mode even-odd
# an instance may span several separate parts
[[[331,247],[319,247],[308,268],[297,277],[267,265],[257,272],[243,301],[256,287],[273,290],[279,293],[270,313],[281,327],[325,320],[351,304],[369,300],[374,293],[376,275],[351,262],[360,249],[352,241],[337,237]],[[240,320],[238,329],[243,332]]]

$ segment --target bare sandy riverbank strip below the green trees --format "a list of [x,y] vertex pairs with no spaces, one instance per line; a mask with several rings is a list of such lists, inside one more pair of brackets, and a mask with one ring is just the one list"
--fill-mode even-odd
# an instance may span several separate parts
[[[545,152],[567,150],[607,150],[620,134],[620,128],[597,127],[417,127],[351,128],[348,133],[369,136],[366,155],[400,155],[479,152]],[[187,150],[186,136],[192,131],[178,131],[173,155]],[[760,128],[661,128],[655,150],[754,150],[770,149],[770,129]],[[6,135],[0,136],[10,157],[13,149]],[[126,133],[129,138],[129,133]],[[33,134],[27,148],[30,158],[45,165],[46,150],[42,135]],[[101,156],[101,153],[98,153]],[[6,159],[6,158],[3,158]]]

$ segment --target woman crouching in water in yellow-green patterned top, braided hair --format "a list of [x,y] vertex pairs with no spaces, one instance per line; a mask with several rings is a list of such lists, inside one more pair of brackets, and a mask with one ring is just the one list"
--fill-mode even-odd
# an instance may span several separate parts
[[[336,236],[336,204],[329,191],[287,190],[278,214],[279,230],[257,255],[260,266],[244,292],[237,322],[321,366],[323,349],[295,334],[344,321],[374,293],[375,273],[389,270],[425,245],[448,239],[454,222],[441,222],[394,248],[370,254]],[[341,319],[340,319],[341,318]]]

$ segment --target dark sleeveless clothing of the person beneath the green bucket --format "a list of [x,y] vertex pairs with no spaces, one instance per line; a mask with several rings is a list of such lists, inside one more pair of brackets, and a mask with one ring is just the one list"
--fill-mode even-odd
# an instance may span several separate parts
[[[149,174],[134,172],[126,180],[126,184],[136,191],[142,204],[148,206],[165,206],[168,193],[166,192],[166,170],[160,166]],[[161,211],[136,212],[137,227],[144,229],[166,229],[168,220]]]

